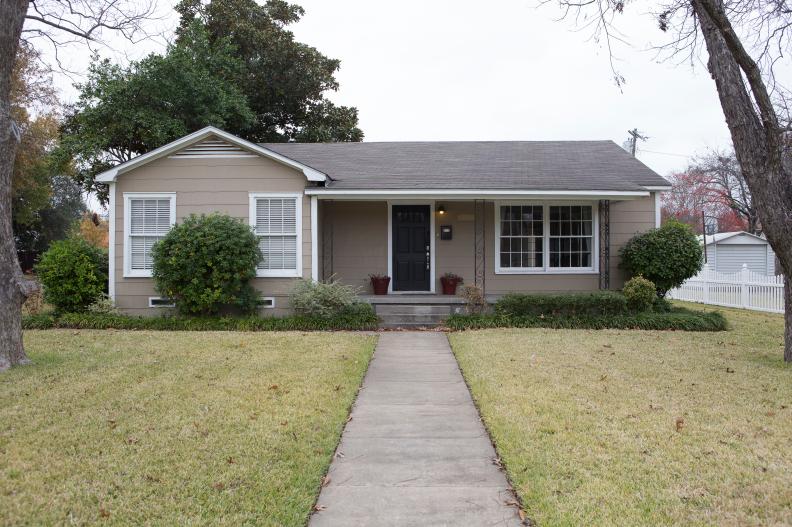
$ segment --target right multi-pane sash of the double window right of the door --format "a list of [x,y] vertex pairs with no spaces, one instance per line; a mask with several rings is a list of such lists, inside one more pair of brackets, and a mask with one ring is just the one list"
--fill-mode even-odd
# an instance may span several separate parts
[[550,267],[592,268],[590,205],[550,206]]

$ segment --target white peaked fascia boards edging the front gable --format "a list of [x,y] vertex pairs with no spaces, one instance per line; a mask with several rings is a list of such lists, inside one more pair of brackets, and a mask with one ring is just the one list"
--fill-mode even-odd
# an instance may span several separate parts
[[110,170],[107,170],[106,172],[102,172],[101,174],[96,176],[96,181],[99,183],[110,183],[112,181],[115,181],[116,178],[121,174],[123,174],[124,172],[132,170],[133,168],[139,167],[146,163],[150,163],[151,161],[154,161],[161,157],[165,157],[168,154],[181,150],[182,148],[190,146],[193,143],[197,143],[202,139],[206,139],[211,135],[216,135],[217,137],[220,137],[225,141],[228,141],[229,143],[235,144],[251,152],[255,152],[259,155],[272,159],[273,161],[277,161],[282,165],[286,165],[290,168],[300,170],[308,179],[308,181],[327,181],[327,176],[324,173],[319,172],[314,168],[311,168],[307,165],[303,165],[302,163],[298,163],[293,159],[278,154],[277,152],[274,152],[268,148],[264,148],[263,146],[259,146],[255,143],[251,143],[250,141],[245,141],[241,137],[237,137],[234,134],[229,134],[228,132],[220,130],[219,128],[215,128],[214,126],[207,126],[206,128],[201,128],[197,132],[193,132],[189,135],[185,135],[184,137],[177,139],[176,141],[173,141],[171,143],[168,143],[167,145],[156,148],[151,152],[140,155],[134,159],[130,159],[126,163],[121,163],[120,165],[113,167]]

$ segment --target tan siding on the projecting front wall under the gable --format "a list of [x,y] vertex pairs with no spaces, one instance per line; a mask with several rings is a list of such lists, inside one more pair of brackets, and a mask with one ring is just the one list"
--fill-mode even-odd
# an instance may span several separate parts
[[[176,220],[189,214],[222,212],[249,221],[250,192],[302,192],[305,176],[262,157],[251,158],[164,158],[127,172],[116,184],[116,304],[130,314],[160,314],[148,308],[148,298],[157,296],[150,278],[124,278],[124,193],[175,192]],[[302,203],[303,277],[311,276],[311,204]],[[293,278],[257,278],[254,285],[263,296],[275,297],[276,309],[264,315],[288,311]]]

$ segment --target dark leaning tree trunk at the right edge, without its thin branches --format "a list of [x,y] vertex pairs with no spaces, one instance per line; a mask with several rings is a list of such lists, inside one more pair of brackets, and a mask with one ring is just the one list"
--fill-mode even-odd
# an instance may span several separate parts
[[[758,68],[735,41],[720,0],[691,0],[707,45],[707,68],[753,203],[785,277],[792,276],[792,174],[783,163],[781,129]],[[729,40],[727,40],[729,39]],[[743,77],[745,75],[745,77]],[[748,92],[746,81],[751,89]],[[756,109],[759,109],[757,114]],[[784,360],[792,362],[792,301],[785,287]]]

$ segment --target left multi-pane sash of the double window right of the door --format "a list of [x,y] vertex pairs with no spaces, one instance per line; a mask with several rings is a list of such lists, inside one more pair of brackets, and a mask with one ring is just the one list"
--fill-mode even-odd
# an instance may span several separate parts
[[500,212],[500,266],[512,269],[544,267],[542,206],[504,205]]

